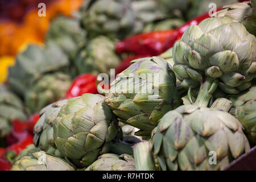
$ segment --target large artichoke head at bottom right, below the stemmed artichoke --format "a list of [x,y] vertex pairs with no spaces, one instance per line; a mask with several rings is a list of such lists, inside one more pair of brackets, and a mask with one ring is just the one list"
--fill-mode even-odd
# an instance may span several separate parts
[[241,123],[217,109],[183,105],[166,113],[153,137],[162,170],[218,170],[250,150]]

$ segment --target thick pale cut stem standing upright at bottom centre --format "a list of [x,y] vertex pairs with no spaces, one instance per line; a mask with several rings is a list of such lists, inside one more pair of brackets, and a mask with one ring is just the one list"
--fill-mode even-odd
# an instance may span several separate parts
[[156,171],[150,141],[136,143],[133,146],[134,163],[137,171]]

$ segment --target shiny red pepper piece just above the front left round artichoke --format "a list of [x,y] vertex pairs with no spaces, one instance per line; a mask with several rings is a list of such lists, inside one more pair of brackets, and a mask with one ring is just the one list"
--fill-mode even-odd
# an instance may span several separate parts
[[66,98],[81,96],[84,93],[98,93],[96,85],[97,77],[92,74],[82,74],[73,80],[69,87]]

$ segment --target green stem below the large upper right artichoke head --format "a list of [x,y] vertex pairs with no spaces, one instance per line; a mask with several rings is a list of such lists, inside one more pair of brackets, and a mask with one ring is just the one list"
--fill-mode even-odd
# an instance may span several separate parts
[[216,78],[207,77],[205,81],[201,82],[199,94],[196,98],[195,105],[199,107],[207,107],[212,98],[212,94],[218,87],[218,80]]

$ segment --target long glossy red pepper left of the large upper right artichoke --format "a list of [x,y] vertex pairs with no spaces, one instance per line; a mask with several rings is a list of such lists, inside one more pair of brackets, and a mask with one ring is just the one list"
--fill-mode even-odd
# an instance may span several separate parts
[[119,54],[131,52],[135,55],[156,56],[160,54],[163,43],[173,33],[174,30],[164,30],[134,35],[118,42],[115,46],[115,51]]

